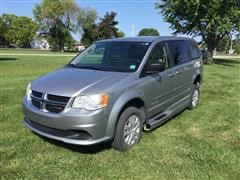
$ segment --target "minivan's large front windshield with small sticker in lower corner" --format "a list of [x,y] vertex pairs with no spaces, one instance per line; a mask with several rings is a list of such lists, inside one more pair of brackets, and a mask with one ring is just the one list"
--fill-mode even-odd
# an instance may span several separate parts
[[149,42],[96,42],[69,64],[101,71],[135,72],[150,46]]

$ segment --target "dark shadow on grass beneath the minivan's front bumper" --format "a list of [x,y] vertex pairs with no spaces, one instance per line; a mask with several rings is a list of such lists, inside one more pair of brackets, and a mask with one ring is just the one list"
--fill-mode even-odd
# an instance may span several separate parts
[[50,144],[62,147],[64,149],[68,149],[73,152],[78,152],[78,153],[83,153],[83,154],[96,154],[96,153],[99,153],[99,152],[102,152],[102,151],[105,151],[105,150],[111,148],[111,141],[99,143],[96,145],[88,145],[88,146],[73,145],[73,144],[64,143],[62,141],[49,139],[49,138],[41,136],[35,132],[33,132],[33,133],[35,135],[37,135],[38,137],[40,137],[42,140],[44,140]]

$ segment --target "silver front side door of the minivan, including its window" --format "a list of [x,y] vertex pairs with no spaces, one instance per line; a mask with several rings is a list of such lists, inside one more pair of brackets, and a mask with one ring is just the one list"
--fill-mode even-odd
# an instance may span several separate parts
[[169,67],[170,56],[166,44],[160,42],[153,48],[143,70],[142,88],[147,99],[147,117],[165,111],[173,103],[172,93],[176,87]]

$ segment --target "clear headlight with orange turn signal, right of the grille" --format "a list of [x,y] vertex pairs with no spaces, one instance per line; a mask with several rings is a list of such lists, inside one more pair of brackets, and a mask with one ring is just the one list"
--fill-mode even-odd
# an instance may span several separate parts
[[81,108],[89,111],[94,111],[107,106],[107,94],[94,94],[88,96],[77,96],[74,99],[72,108]]

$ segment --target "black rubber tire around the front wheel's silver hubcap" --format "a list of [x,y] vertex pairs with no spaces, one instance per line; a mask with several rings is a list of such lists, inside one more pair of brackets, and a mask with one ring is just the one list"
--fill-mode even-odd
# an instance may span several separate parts
[[[131,136],[132,139],[134,139],[134,140],[130,140],[130,141],[131,142],[135,141],[133,144],[127,144],[126,143],[127,136],[126,137],[124,136],[124,131],[126,132],[125,127],[128,126],[130,117],[138,117],[139,122],[140,122],[140,129],[137,128],[137,129],[139,129],[139,131],[138,131],[139,133],[137,133],[137,134],[139,134],[139,136],[138,135],[135,136],[138,138],[133,138],[133,136]],[[135,144],[137,144],[140,141],[140,138],[142,135],[144,119],[145,119],[145,113],[142,108],[137,109],[135,107],[128,107],[127,109],[125,109],[118,119],[116,131],[115,131],[115,137],[112,142],[112,147],[117,150],[126,151],[126,150],[132,148]],[[138,120],[136,120],[136,121],[138,121]]]

